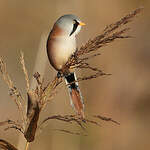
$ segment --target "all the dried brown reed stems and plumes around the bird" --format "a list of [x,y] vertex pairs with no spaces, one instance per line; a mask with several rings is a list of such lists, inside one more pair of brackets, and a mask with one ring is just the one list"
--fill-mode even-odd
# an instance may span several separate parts
[[[90,64],[87,63],[87,60],[100,55],[98,50],[114,42],[115,40],[130,38],[130,36],[125,35],[125,33],[130,28],[127,28],[127,27],[121,28],[121,27],[124,27],[124,25],[131,22],[133,18],[141,12],[141,10],[142,8],[137,8],[136,10],[132,11],[125,17],[121,18],[119,21],[113,24],[110,24],[104,29],[104,31],[100,35],[96,36],[92,40],[89,40],[85,45],[81,46],[80,49],[77,49],[74,55],[71,56],[69,61],[63,67],[63,70],[61,72],[62,76],[60,77],[56,76],[54,80],[49,82],[46,86],[44,86],[44,82],[43,82],[44,79],[37,72],[34,74],[34,78],[37,81],[37,86],[33,90],[30,89],[28,71],[25,66],[24,55],[21,52],[20,63],[22,65],[22,69],[25,75],[25,80],[26,80],[27,100],[23,98],[21,92],[14,85],[13,81],[8,75],[6,64],[4,63],[3,59],[0,58],[0,72],[1,72],[2,78],[8,85],[8,88],[10,91],[9,95],[11,99],[16,103],[18,107],[18,111],[21,114],[20,122],[13,121],[10,119],[10,120],[0,122],[0,126],[7,126],[5,130],[11,129],[11,128],[16,129],[21,134],[23,134],[27,141],[26,150],[28,149],[29,143],[34,141],[37,129],[42,128],[42,125],[48,120],[56,119],[56,120],[64,121],[66,123],[74,122],[79,127],[81,127],[84,131],[88,123],[92,123],[94,125],[100,126],[99,122],[95,120],[91,120],[87,118],[85,118],[84,120],[81,120],[75,115],[64,115],[64,116],[54,115],[54,116],[47,117],[40,124],[38,123],[38,121],[39,121],[39,116],[40,116],[41,111],[45,108],[48,102],[56,94],[56,87],[58,87],[58,85],[62,83],[63,74],[65,74],[68,71],[68,69],[77,68],[77,69],[89,69],[91,71],[94,71],[94,73],[90,76],[79,77],[78,81],[89,80],[89,79],[97,78],[103,75],[109,75],[109,74],[104,73],[98,68],[91,67]],[[93,53],[95,52],[95,53],[91,54],[92,52]],[[91,55],[89,56],[89,54]],[[27,101],[27,110],[25,109],[26,107],[23,107],[23,104],[22,104],[25,101]],[[111,121],[119,125],[117,121],[111,118],[103,117],[100,115],[94,115],[92,117],[94,119],[97,118],[97,119],[101,119],[105,121]],[[75,135],[81,134],[78,132],[72,132],[72,131],[68,131],[65,129],[57,129],[57,131],[62,131],[65,133],[75,134]],[[5,150],[17,150],[17,148],[15,148],[9,142],[2,140],[2,139],[0,139],[0,148],[3,148]]]

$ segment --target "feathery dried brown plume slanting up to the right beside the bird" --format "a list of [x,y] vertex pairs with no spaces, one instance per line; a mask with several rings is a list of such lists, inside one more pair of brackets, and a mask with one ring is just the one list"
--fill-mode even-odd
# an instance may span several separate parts
[[[70,68],[89,69],[96,72],[90,76],[79,77],[78,79],[79,81],[89,80],[104,75],[110,75],[104,73],[100,69],[91,67],[90,64],[87,63],[87,61],[93,57],[99,56],[100,53],[98,52],[98,50],[100,50],[104,46],[108,46],[109,44],[116,41],[117,39],[131,38],[131,36],[125,35],[125,33],[127,33],[127,31],[129,31],[130,28],[124,27],[124,25],[131,22],[134,19],[134,17],[137,16],[142,10],[143,10],[142,7],[137,8],[136,10],[127,14],[125,17],[121,18],[119,21],[116,21],[115,23],[106,26],[102,34],[96,36],[93,39],[90,39],[87,43],[85,43],[79,49],[77,49],[74,55],[72,55],[72,57],[64,66],[62,73],[67,72],[67,70]],[[124,28],[121,29],[122,27]],[[96,54],[89,55],[91,53],[96,53]]]

